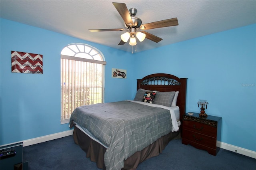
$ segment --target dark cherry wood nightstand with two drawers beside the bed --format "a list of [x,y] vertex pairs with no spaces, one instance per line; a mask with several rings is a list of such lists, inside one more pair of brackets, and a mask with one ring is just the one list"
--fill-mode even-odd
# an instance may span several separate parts
[[207,150],[209,154],[216,156],[220,149],[216,142],[220,141],[221,122],[221,117],[200,117],[199,113],[186,113],[182,123],[182,143]]

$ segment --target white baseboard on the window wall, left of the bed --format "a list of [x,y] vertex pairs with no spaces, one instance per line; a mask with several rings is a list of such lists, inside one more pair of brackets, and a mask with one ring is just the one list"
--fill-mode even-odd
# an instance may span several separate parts
[[46,135],[46,136],[41,136],[41,137],[38,137],[38,138],[32,138],[32,139],[24,140],[23,141],[23,146],[29,146],[29,145],[32,145],[32,144],[42,143],[42,142],[46,142],[46,141],[49,141],[49,140],[54,140],[54,139],[62,138],[62,137],[65,137],[65,136],[70,136],[72,134],[73,134],[73,129],[72,130],[67,130],[67,131],[64,131],[64,132],[59,132],[59,133]]

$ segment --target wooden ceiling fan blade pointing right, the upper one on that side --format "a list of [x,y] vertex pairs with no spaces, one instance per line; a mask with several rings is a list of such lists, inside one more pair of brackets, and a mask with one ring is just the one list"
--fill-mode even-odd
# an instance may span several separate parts
[[178,25],[179,25],[178,19],[171,18],[171,19],[167,19],[167,20],[151,22],[148,24],[142,24],[140,26],[140,29],[149,30],[149,29],[154,29],[154,28],[162,28],[162,27],[170,27],[170,26],[178,26]]

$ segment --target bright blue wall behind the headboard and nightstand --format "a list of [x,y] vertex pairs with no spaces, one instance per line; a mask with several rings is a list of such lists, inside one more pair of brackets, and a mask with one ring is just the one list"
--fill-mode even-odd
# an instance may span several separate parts
[[186,111],[199,112],[197,102],[207,99],[206,113],[222,117],[221,142],[256,151],[255,24],[135,56],[135,78],[151,73],[187,77]]

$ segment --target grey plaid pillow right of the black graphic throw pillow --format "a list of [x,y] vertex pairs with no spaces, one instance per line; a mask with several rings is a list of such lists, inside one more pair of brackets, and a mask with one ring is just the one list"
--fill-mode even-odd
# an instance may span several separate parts
[[158,91],[154,99],[154,104],[171,107],[172,101],[174,99],[174,95],[175,95],[175,91],[167,91],[167,92]]

